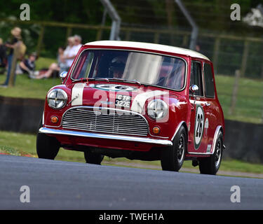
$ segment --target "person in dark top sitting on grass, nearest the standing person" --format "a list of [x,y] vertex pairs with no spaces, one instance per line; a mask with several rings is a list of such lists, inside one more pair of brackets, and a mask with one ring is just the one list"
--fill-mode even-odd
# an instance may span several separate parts
[[15,71],[17,74],[27,73],[29,77],[34,76],[34,74],[38,74],[38,72],[34,71],[35,69],[35,62],[37,59],[37,55],[33,52],[29,55],[28,59],[23,59],[19,64]]

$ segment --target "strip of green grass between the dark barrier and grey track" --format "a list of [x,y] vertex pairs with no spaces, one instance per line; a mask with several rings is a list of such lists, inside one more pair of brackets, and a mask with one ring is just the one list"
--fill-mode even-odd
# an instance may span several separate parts
[[[33,155],[37,158],[36,155],[36,135],[33,134],[19,134],[15,132],[0,132],[0,153],[3,151],[7,151],[11,153],[11,155]],[[72,162],[85,162],[84,156],[82,152],[77,151],[67,151],[64,149],[60,149],[58,156],[55,160],[65,160]],[[133,165],[129,165],[130,163],[137,163],[138,166],[142,168],[145,165],[154,165],[159,166],[161,169],[160,161],[140,161],[140,160],[127,160],[125,158],[108,158],[105,157],[102,164],[104,165],[114,165],[116,162],[126,162],[128,167],[133,167]],[[184,168],[193,168],[198,170],[198,168],[194,168],[191,165],[191,161],[184,161]],[[248,172],[255,174],[263,173],[263,165],[260,164],[252,164],[249,162],[242,162],[238,160],[223,160],[222,165],[220,167],[220,171],[231,171],[231,172]]]

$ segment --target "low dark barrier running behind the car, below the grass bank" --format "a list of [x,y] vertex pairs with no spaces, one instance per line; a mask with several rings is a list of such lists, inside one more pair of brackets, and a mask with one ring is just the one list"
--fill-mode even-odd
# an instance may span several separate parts
[[[0,97],[0,130],[36,134],[44,100]],[[225,120],[225,158],[263,163],[263,125]]]

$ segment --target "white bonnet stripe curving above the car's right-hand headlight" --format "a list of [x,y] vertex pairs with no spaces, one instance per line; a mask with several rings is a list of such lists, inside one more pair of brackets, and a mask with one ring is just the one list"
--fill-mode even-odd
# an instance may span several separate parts
[[168,94],[168,92],[163,92],[160,90],[154,90],[151,92],[144,92],[142,94],[137,94],[137,96],[133,99],[133,104],[130,107],[130,111],[142,113],[144,104],[147,101],[147,99],[149,99],[151,97],[161,96],[163,94]]

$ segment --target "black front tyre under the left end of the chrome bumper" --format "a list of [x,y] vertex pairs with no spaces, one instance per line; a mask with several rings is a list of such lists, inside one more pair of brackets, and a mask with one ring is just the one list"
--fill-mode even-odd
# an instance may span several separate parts
[[[39,123],[39,128],[42,119]],[[38,133],[36,135],[36,153],[41,159],[54,160],[60,150],[60,142],[55,137],[49,137],[46,134]]]

